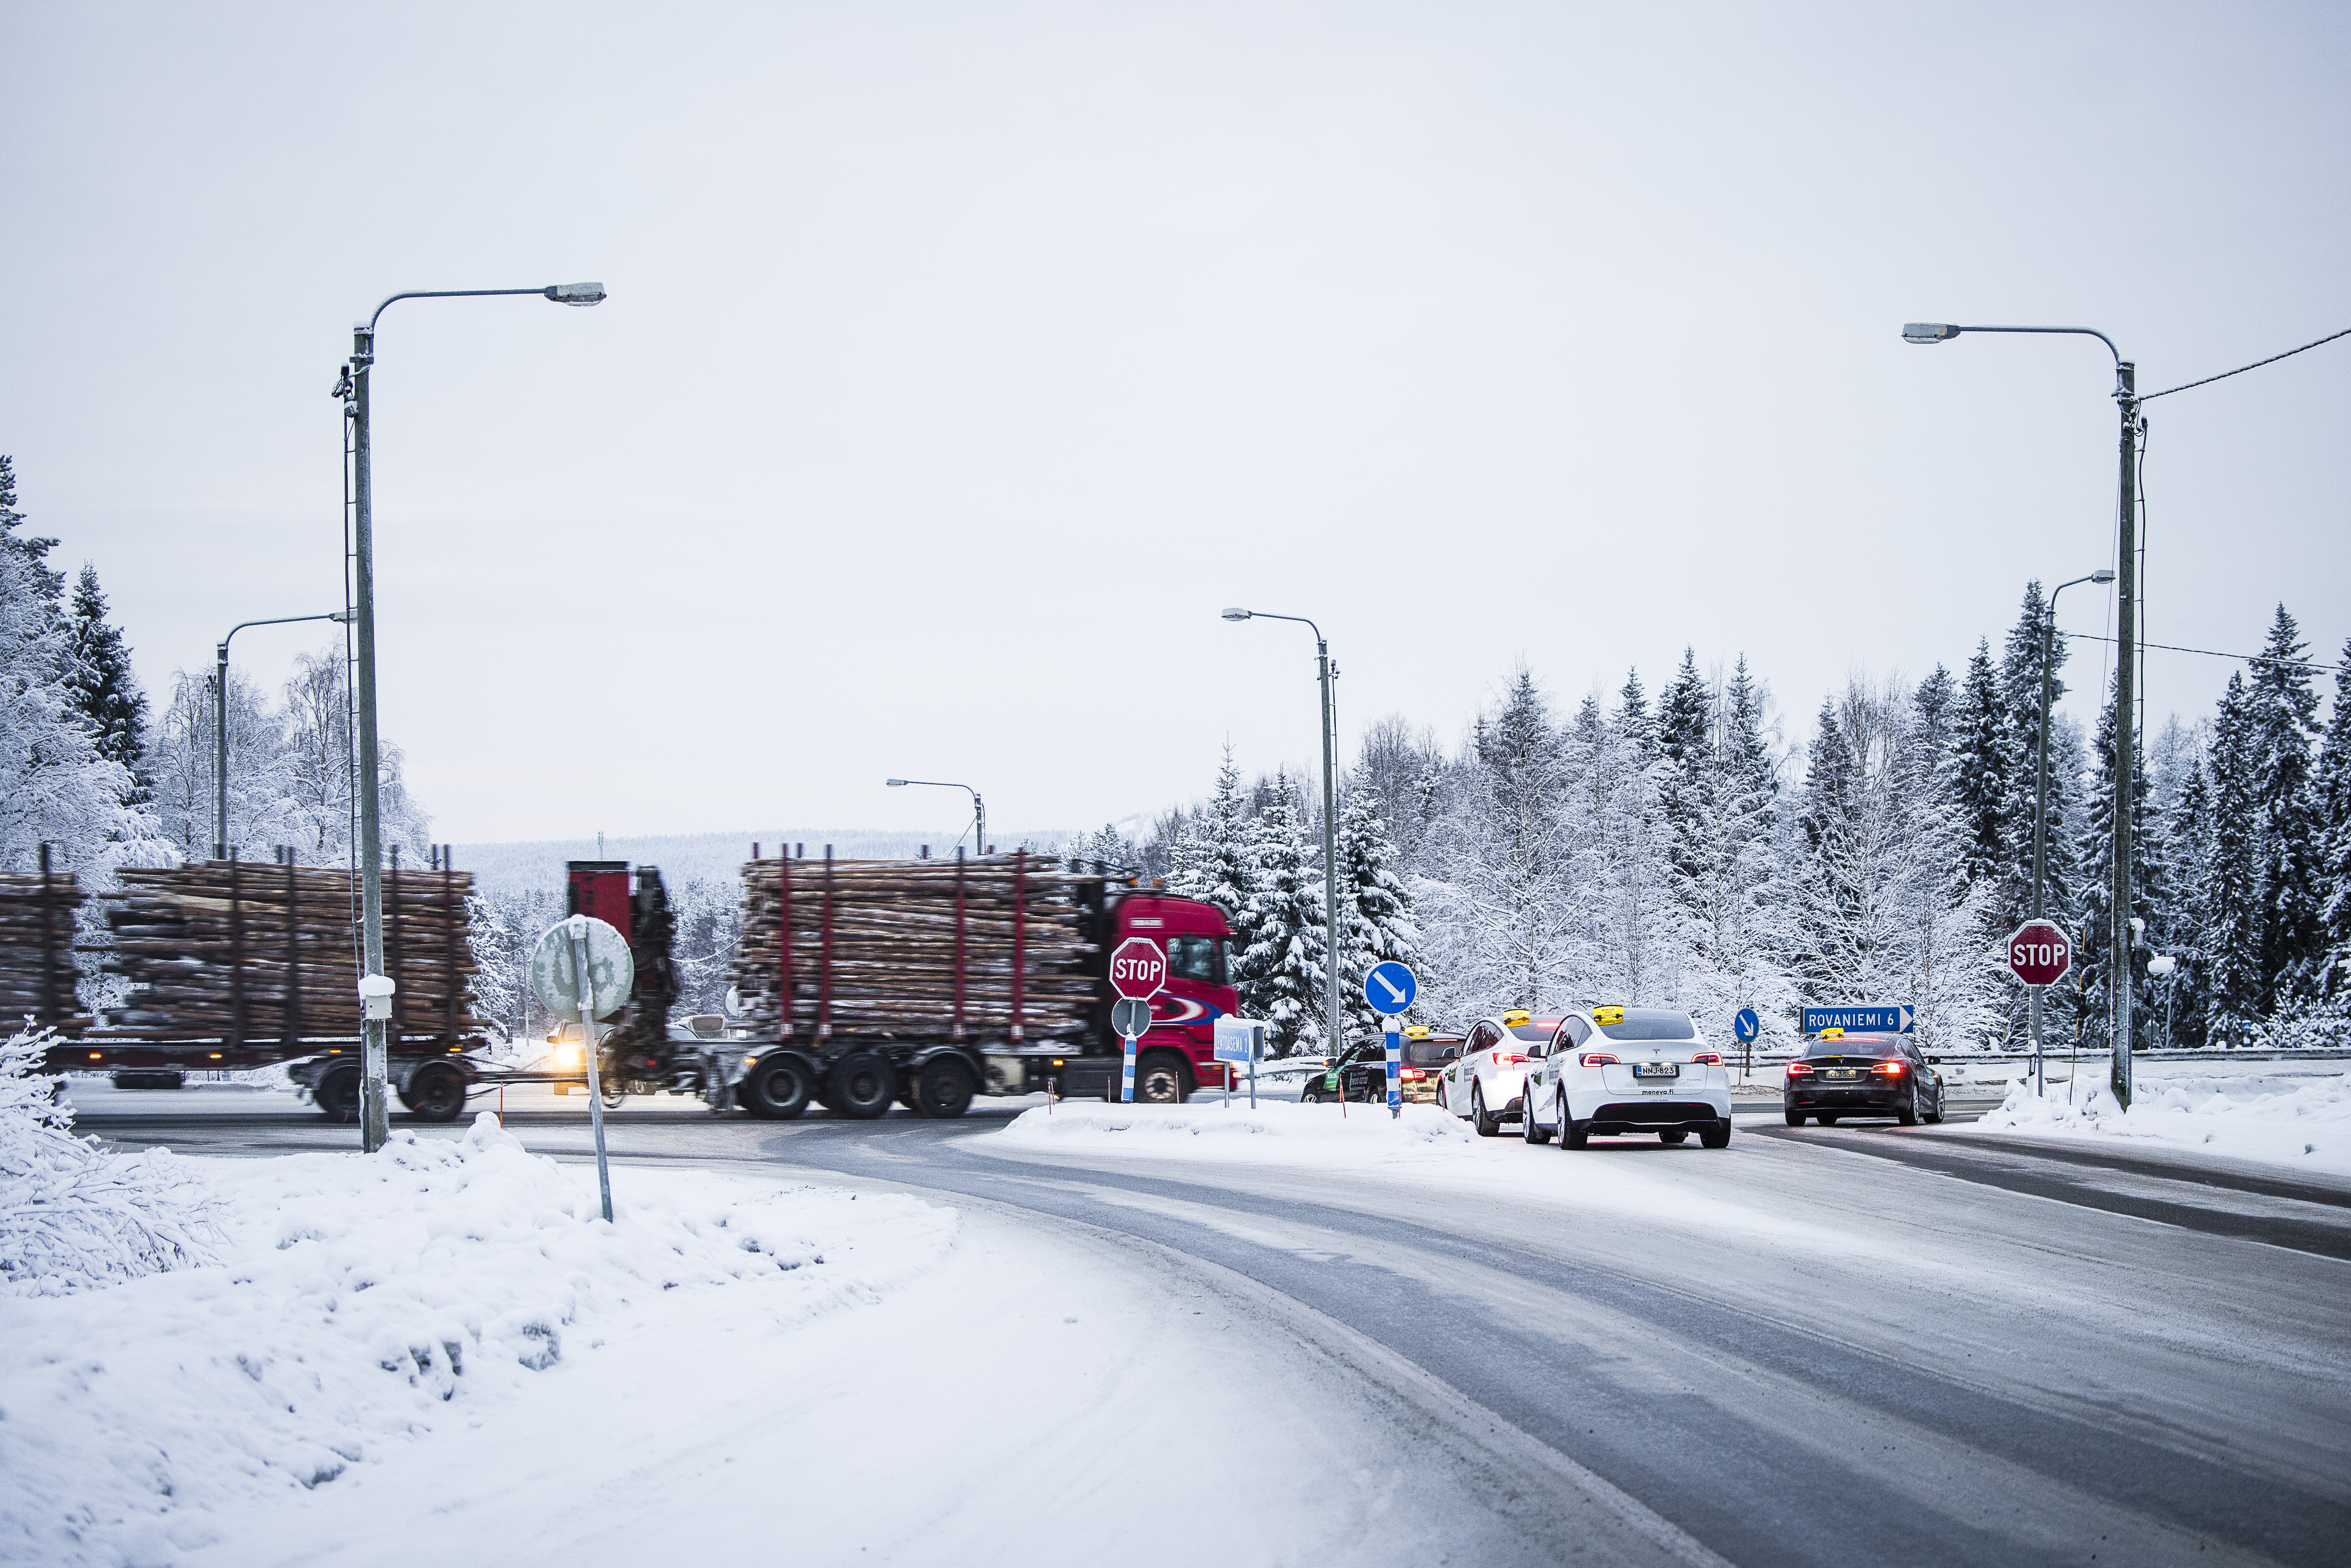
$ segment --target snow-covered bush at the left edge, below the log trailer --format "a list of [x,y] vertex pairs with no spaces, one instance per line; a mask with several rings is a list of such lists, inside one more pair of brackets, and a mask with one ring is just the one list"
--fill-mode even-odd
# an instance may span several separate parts
[[205,1262],[216,1239],[195,1175],[165,1150],[106,1154],[40,1074],[54,1030],[0,1044],[0,1291],[63,1295]]

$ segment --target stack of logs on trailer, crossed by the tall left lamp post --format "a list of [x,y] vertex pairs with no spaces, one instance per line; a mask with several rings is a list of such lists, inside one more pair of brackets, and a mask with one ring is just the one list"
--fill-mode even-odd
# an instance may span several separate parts
[[[132,983],[110,1009],[120,1039],[294,1044],[360,1032],[357,898],[346,870],[256,860],[125,867],[101,893],[115,945],[103,964]],[[383,872],[383,973],[393,1039],[484,1032],[468,1011],[470,872]]]

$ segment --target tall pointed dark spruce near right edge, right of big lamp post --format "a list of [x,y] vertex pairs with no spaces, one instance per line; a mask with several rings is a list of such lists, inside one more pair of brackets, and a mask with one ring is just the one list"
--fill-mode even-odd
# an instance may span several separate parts
[[2252,804],[2262,818],[2255,886],[2262,898],[2262,1016],[2318,994],[2325,964],[2325,886],[2311,745],[2318,693],[2302,668],[2302,635],[2278,607],[2245,686],[2252,741]]

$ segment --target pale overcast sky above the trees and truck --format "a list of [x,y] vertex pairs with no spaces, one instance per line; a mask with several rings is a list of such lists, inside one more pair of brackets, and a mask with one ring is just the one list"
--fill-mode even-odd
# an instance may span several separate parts
[[[1347,748],[1683,646],[1801,741],[2114,555],[2106,350],[1904,320],[2144,390],[2351,327],[2339,2],[19,0],[0,61],[0,451],[158,698],[341,604],[355,315],[611,292],[383,317],[383,729],[456,842],[1312,759],[1305,628],[1223,604],[1321,621]],[[2351,339],[2149,416],[2146,635],[2332,658]]]

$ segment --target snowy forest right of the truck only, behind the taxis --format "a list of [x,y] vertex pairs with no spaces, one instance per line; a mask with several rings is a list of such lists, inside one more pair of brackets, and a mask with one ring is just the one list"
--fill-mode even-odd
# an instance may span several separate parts
[[[1686,654],[1653,698],[1639,672],[1561,708],[1521,670],[1460,745],[1375,724],[1340,790],[1340,971],[1399,957],[1415,1016],[1509,1006],[1686,1006],[1716,1037],[1754,1006],[1787,1037],[1806,1004],[1911,1004],[1937,1048],[2015,1046],[2024,990],[2003,938],[2031,912],[2041,628],[2034,585],[2008,637],[1961,672],[1855,679],[1784,745],[1744,661]],[[2092,644],[2095,646],[2095,644]],[[2067,649],[2052,689],[2067,689]],[[2351,646],[2320,724],[2320,668],[2280,607],[2262,656],[2203,722],[2142,738],[2130,976],[2137,1044],[2351,1039]],[[2144,726],[2142,726],[2144,729]],[[2050,733],[2048,910],[2078,943],[2055,1039],[2106,1039],[2114,736]],[[1244,1006],[1288,1051],[1324,1044],[1328,961],[1319,802],[1227,752],[1206,804],[1147,839],[1074,853],[1166,877],[1239,933]],[[2172,980],[2146,957],[2179,959]]]

